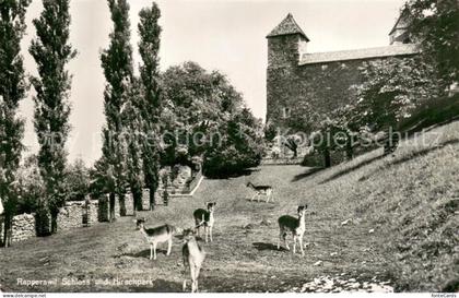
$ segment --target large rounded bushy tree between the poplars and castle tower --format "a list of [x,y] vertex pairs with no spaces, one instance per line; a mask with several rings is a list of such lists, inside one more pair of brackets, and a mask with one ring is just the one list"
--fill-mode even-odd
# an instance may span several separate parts
[[186,62],[169,68],[162,79],[165,164],[191,165],[192,157],[203,157],[208,175],[233,174],[259,164],[261,123],[223,74]]

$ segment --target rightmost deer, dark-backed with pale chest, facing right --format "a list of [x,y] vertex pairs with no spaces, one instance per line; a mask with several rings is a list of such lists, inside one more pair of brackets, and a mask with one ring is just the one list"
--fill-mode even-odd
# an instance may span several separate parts
[[306,204],[304,206],[298,206],[298,218],[295,218],[290,215],[283,215],[279,217],[278,223],[279,223],[279,229],[280,229],[280,235],[279,235],[280,239],[278,242],[278,249],[281,248],[281,241],[283,240],[286,249],[290,250],[289,243],[286,242],[285,238],[286,238],[287,233],[292,233],[293,253],[296,253],[296,241],[298,241],[302,255],[305,254],[305,252],[303,251],[303,235],[305,234],[305,230],[306,230],[306,223],[305,223],[306,208],[307,208]]

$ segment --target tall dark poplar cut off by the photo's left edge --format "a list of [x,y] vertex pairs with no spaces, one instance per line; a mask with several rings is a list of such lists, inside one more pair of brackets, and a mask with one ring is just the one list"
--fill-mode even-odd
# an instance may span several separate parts
[[27,91],[21,39],[30,3],[31,0],[9,0],[0,5],[0,200],[4,207],[4,233],[0,239],[7,246],[16,207],[15,170],[23,150],[24,121],[17,117],[17,107]]

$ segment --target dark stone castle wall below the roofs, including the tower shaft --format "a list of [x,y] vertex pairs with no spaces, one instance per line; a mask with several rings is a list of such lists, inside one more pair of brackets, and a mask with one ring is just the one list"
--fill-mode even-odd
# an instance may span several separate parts
[[[297,43],[292,43],[292,39],[271,40],[278,38],[282,39],[276,37],[268,41],[267,121],[282,129],[284,134],[303,131],[302,123],[296,119],[305,119],[305,115],[323,115],[356,100],[352,86],[362,83],[360,68],[367,61],[387,59],[366,58],[298,65],[297,56],[294,55],[297,52]],[[293,60],[289,63],[286,57]],[[411,59],[410,56],[399,58]],[[284,108],[290,109],[290,117]]]

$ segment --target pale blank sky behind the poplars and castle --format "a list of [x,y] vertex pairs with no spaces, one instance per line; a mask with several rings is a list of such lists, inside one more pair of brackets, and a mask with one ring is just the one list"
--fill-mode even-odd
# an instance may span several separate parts
[[[308,52],[387,46],[388,33],[404,0],[157,0],[161,70],[184,61],[196,61],[207,70],[225,73],[258,118],[266,116],[266,35],[287,13],[292,13],[310,43]],[[130,0],[131,45],[134,67],[139,64],[137,44],[138,13],[151,0]],[[26,15],[27,32],[22,40],[26,72],[36,74],[36,64],[27,49],[42,1],[33,0]],[[105,0],[71,0],[70,43],[79,51],[68,70],[73,75],[71,96],[72,131],[67,143],[69,160],[82,158],[92,165],[102,152],[105,123],[103,91],[105,79],[101,51],[108,46],[113,24]],[[33,129],[33,88],[21,104],[26,119],[24,155],[37,152]]]

